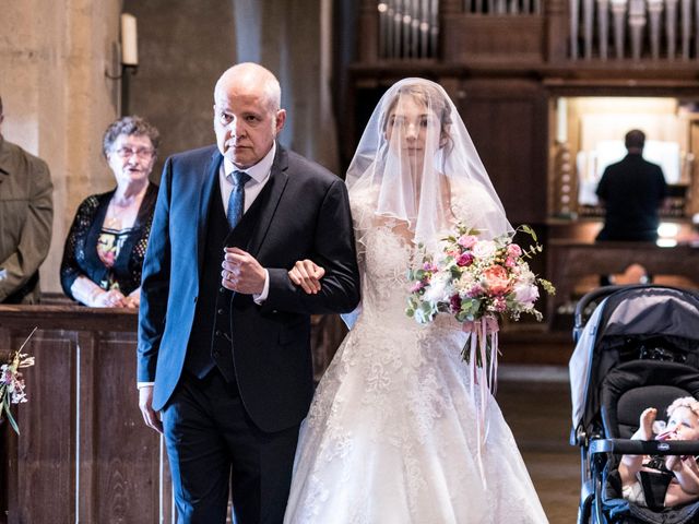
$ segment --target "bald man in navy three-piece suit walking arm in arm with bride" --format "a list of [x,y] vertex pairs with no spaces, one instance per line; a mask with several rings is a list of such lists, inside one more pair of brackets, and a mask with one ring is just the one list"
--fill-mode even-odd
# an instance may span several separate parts
[[[359,300],[347,192],[275,139],[281,88],[241,63],[214,90],[216,146],[167,159],[143,265],[139,405],[164,432],[179,523],[281,523],[313,393],[311,313]],[[325,269],[307,294],[288,270]],[[158,417],[159,412],[159,417]]]

